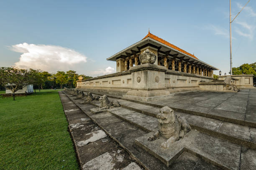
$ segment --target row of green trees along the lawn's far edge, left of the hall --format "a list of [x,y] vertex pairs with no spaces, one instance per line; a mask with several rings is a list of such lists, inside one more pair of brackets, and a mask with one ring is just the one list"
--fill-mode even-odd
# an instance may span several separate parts
[[57,71],[56,73],[49,73],[47,71],[33,70],[33,69],[19,69],[17,67],[0,67],[0,88],[8,89],[12,92],[13,100],[15,100],[15,92],[23,89],[27,85],[33,85],[34,89],[49,89],[49,88],[63,88],[76,87],[78,77],[84,79],[91,78],[86,75],[79,75],[74,70],[67,72]]

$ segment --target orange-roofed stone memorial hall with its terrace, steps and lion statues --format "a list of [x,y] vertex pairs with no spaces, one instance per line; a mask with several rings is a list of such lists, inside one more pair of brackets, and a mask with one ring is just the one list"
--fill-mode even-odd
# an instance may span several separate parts
[[82,170],[255,170],[253,75],[151,34],[107,58],[116,72],[59,92]]

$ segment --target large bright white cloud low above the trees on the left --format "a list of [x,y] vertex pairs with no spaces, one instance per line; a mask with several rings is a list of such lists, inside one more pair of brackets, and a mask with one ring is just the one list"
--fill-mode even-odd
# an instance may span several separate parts
[[87,62],[87,57],[79,52],[55,45],[35,45],[25,42],[9,48],[23,53],[20,55],[20,60],[15,63],[15,66],[20,68],[56,72],[57,70],[75,69],[75,64]]

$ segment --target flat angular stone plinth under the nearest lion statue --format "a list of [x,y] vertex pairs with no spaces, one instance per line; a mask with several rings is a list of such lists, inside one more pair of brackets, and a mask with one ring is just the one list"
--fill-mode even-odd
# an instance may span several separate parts
[[[148,141],[147,138],[153,134],[151,132],[136,138],[135,143],[166,166],[172,165],[179,155],[188,152],[221,169],[239,169],[240,145],[191,130],[183,139],[170,144],[168,149],[162,149],[161,143],[167,139],[159,137]],[[229,148],[228,152],[226,148]]]

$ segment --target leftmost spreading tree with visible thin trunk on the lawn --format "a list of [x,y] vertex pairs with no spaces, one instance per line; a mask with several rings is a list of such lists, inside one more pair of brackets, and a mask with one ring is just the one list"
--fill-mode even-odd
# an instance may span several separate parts
[[33,84],[36,77],[36,70],[18,69],[16,67],[0,67],[0,85],[12,91],[13,100],[15,92],[27,85]]

